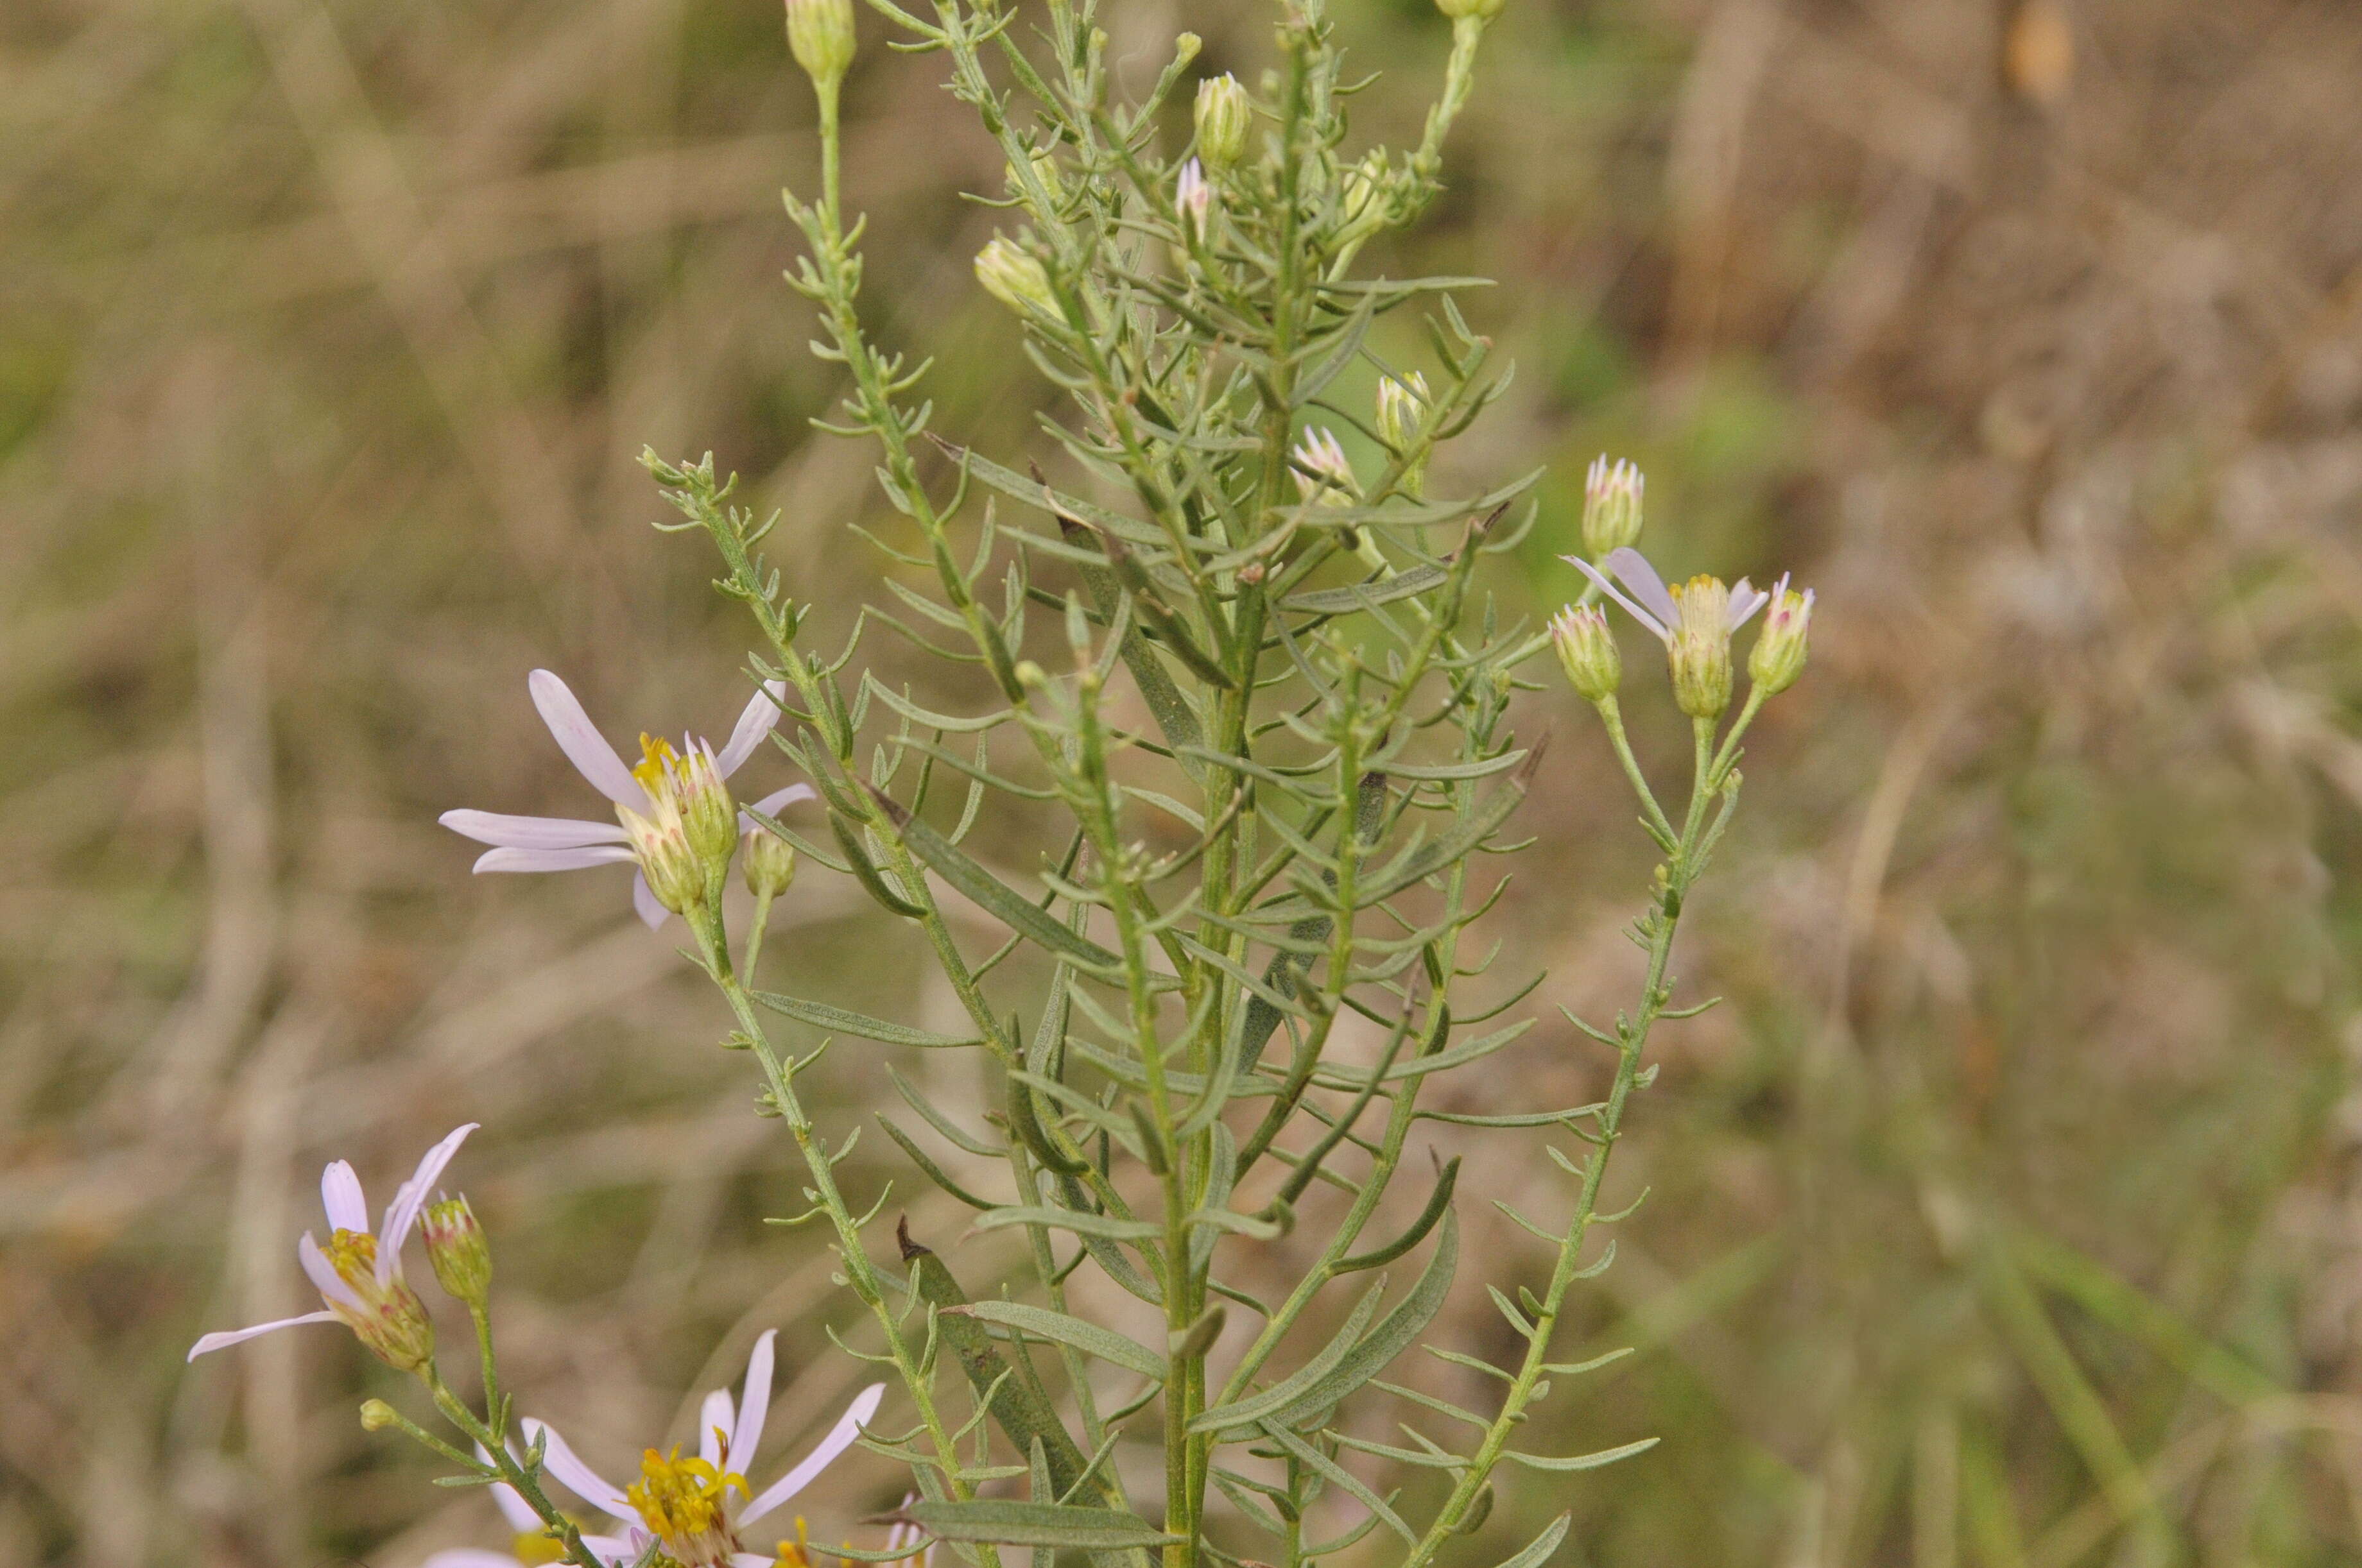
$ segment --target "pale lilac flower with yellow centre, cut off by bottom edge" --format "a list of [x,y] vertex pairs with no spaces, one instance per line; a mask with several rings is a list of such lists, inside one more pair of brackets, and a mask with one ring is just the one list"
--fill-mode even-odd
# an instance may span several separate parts
[[664,1455],[650,1448],[640,1455],[640,1478],[628,1488],[614,1485],[583,1464],[567,1448],[567,1440],[541,1422],[524,1422],[524,1433],[546,1443],[541,1462],[548,1476],[621,1521],[626,1540],[638,1535],[645,1544],[647,1537],[654,1537],[664,1556],[680,1568],[770,1568],[782,1554],[749,1551],[746,1528],[777,1511],[779,1504],[808,1488],[836,1455],[853,1448],[862,1424],[876,1415],[879,1400],[886,1398],[886,1384],[862,1389],[813,1452],[768,1488],[753,1492],[739,1466],[753,1459],[756,1445],[763,1440],[763,1422],[770,1415],[772,1339],[775,1332],[765,1332],[753,1341],[737,1403],[730,1400],[727,1389],[706,1396],[697,1457],[683,1459],[678,1448]]

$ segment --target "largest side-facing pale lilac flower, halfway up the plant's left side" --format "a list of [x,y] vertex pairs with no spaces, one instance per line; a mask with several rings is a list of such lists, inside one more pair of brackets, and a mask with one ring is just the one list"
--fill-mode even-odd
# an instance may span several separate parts
[[[772,680],[753,694],[720,751],[692,734],[685,734],[678,749],[642,734],[638,767],[624,765],[565,680],[550,671],[534,671],[527,690],[557,749],[614,803],[616,819],[454,810],[439,822],[454,834],[494,845],[477,857],[477,871],[579,871],[638,862],[631,904],[654,930],[668,912],[678,914],[704,895],[709,871],[716,862],[727,867],[739,834],[753,829],[753,817],[730,803],[723,784],[779,723],[782,685]],[[753,810],[775,815],[810,798],[810,784],[789,784],[756,801]]]

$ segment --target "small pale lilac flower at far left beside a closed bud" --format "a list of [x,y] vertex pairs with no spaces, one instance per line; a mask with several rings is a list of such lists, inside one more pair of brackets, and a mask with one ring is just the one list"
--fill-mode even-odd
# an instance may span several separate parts
[[342,1322],[390,1365],[404,1372],[425,1365],[435,1353],[435,1325],[428,1320],[418,1292],[402,1278],[402,1244],[418,1223],[428,1188],[435,1185],[444,1167],[451,1164],[451,1155],[475,1129],[477,1124],[468,1122],[428,1150],[411,1178],[394,1190],[394,1202],[385,1204],[385,1219],[378,1221],[376,1230],[368,1228],[368,1197],[352,1167],[338,1159],[324,1169],[319,1200],[328,1209],[328,1244],[314,1242],[309,1230],[295,1242],[295,1259],[319,1287],[324,1311],[205,1334],[189,1346],[189,1360],[298,1322]]

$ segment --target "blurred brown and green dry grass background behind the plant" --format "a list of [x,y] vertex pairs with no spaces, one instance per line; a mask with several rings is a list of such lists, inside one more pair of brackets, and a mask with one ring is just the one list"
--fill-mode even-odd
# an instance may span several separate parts
[[[1335,12],[1386,73],[1356,132],[1408,139],[1443,26]],[[1134,87],[1183,26],[1268,59],[1252,0],[1108,26]],[[1025,451],[1042,383],[954,196],[999,163],[938,61],[864,38],[872,321],[938,354],[938,427]],[[1505,1476],[1467,1561],[1561,1507],[1561,1563],[2362,1561],[2355,83],[2334,0],[1512,0],[1488,38],[1450,194],[1372,262],[1502,281],[1467,305],[1516,383],[1448,460],[1552,463],[1502,605],[1571,593],[1611,451],[1660,562],[1793,567],[1821,614],[1684,937],[1731,1001],[1658,1034],[1611,1193],[1651,1200],[1583,1301],[1580,1346],[1637,1355],[1535,1448],[1665,1440]],[[779,1455],[857,1384],[678,926],[621,871],[470,881],[435,827],[593,805],[534,666],[619,739],[737,713],[746,628],[647,527],[642,442],[784,508],[791,588],[850,628],[848,524],[890,517],[805,427],[839,392],[777,281],[808,120],[765,0],[0,5],[0,1566],[505,1544],[361,1433],[411,1396],[345,1334],[182,1365],[302,1311],[324,1159],[383,1202],[463,1119],[508,1377],[609,1474],[763,1327]],[[1557,744],[1495,935],[1604,1013],[1646,845],[1578,704],[1523,723]],[[820,869],[770,963],[952,1011]],[[831,1124],[890,1058],[839,1046]],[[1455,1093],[1594,1082],[1552,1023]],[[1538,1152],[1462,1190],[1554,1214]],[[898,1162],[872,1136],[848,1178]],[[1469,1259],[1538,1266],[1464,1207]],[[1481,1348],[1464,1275],[1434,1337]],[[1486,1398],[1450,1372],[1408,1374]],[[834,1540],[895,1492],[857,1459],[798,1507]]]

